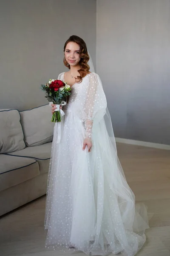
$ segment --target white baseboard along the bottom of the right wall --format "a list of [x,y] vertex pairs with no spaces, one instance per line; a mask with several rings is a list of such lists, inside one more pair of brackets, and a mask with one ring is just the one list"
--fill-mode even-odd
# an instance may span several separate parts
[[129,140],[129,139],[122,139],[122,138],[115,138],[116,142],[125,143],[125,144],[131,144],[131,145],[139,145],[149,148],[160,148],[160,149],[167,149],[170,150],[170,145],[164,145],[159,143],[151,143],[151,142],[145,142],[140,140]]

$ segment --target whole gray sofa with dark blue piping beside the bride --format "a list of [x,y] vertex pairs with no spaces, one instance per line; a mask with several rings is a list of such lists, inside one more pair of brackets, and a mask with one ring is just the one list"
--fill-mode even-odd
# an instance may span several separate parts
[[45,195],[53,129],[49,105],[0,109],[0,215]]

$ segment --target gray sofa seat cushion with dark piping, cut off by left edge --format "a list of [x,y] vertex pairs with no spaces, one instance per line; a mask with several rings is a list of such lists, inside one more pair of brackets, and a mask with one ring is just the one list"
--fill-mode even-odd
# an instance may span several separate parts
[[37,175],[40,175],[40,169],[35,159],[0,154],[0,191]]

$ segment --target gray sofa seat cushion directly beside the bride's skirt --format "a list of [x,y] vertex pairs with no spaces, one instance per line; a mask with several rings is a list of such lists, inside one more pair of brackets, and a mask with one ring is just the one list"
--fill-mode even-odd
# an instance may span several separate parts
[[23,150],[17,152],[11,152],[10,155],[31,157],[34,158],[40,166],[40,173],[48,172],[49,162],[51,157],[51,145],[52,142],[45,143],[39,146],[26,147]]

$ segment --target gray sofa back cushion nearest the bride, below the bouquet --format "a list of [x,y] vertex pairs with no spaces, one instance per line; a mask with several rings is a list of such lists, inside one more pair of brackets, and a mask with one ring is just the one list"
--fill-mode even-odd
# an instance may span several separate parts
[[20,111],[20,115],[26,145],[37,146],[52,141],[54,123],[49,105]]

